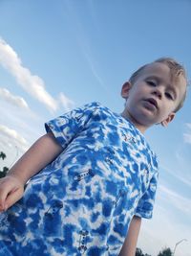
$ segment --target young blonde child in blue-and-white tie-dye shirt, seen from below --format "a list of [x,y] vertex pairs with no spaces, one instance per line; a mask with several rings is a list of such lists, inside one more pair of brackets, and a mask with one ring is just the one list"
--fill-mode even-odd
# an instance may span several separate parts
[[123,84],[121,115],[92,103],[48,122],[0,179],[0,255],[135,255],[158,180],[142,133],[166,127],[185,94],[183,67],[159,58]]

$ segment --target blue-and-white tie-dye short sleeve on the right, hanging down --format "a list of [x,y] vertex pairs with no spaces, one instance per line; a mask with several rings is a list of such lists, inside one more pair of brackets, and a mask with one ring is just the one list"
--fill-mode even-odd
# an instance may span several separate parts
[[149,187],[142,197],[138,200],[138,206],[135,215],[140,218],[151,219],[153,216],[153,208],[156,198],[156,190],[158,184],[158,170],[152,176]]

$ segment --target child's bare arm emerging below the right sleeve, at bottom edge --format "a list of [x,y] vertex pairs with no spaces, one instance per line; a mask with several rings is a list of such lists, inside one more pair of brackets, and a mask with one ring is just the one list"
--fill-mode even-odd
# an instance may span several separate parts
[[135,256],[140,230],[141,218],[134,216],[130,223],[128,235],[118,256]]

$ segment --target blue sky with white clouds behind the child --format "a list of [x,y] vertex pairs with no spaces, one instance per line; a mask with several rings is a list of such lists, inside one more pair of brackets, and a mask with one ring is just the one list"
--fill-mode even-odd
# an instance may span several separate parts
[[[0,151],[12,164],[44,123],[97,101],[117,113],[139,66],[176,58],[191,77],[190,0],[0,0]],[[145,133],[159,156],[154,217],[138,247],[191,256],[191,93],[175,120]],[[185,241],[186,240],[186,241]]]

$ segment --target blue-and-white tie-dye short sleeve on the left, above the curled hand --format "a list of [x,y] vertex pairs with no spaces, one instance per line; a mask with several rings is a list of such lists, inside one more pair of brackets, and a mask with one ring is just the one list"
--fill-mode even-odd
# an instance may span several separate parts
[[45,129],[47,132],[52,131],[57,142],[65,149],[86,126],[98,105],[98,103],[91,103],[75,108],[45,123]]

